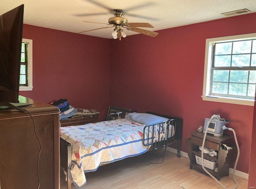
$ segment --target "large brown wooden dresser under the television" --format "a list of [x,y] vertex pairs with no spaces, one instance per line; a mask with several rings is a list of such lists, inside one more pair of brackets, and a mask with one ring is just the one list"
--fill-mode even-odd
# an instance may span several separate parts
[[20,97],[28,112],[0,110],[0,188],[60,188],[59,109]]

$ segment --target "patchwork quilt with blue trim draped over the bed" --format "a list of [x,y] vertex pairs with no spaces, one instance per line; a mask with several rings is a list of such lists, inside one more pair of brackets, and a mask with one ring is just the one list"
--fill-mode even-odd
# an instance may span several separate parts
[[86,184],[84,173],[101,164],[138,156],[150,146],[142,144],[144,124],[126,119],[61,128],[61,137],[72,145],[70,178],[76,187]]

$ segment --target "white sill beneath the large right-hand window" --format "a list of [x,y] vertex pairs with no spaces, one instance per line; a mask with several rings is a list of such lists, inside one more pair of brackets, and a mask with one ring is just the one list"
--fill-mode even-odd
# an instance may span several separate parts
[[224,98],[216,96],[202,96],[203,100],[212,101],[212,102],[224,102],[230,104],[240,104],[246,106],[254,106],[254,100],[240,99],[240,98]]

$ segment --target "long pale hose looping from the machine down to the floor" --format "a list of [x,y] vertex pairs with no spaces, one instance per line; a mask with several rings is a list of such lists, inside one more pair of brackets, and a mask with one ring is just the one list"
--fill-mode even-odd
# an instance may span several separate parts
[[[207,130],[208,130],[208,127],[209,127],[209,124],[210,122],[214,119],[214,118],[219,118],[220,120],[223,120],[220,118],[220,115],[212,115],[212,117],[210,118],[210,120],[208,121],[208,124],[206,126],[206,129],[205,129],[205,133],[204,133],[204,139],[203,139],[203,144],[202,144],[202,152],[201,152],[201,158],[202,158],[202,168],[204,169],[204,171],[210,175],[210,177],[212,177],[215,181],[217,181],[222,187],[224,187],[225,189],[228,189],[226,186],[224,186],[220,181],[218,181],[218,179],[216,179],[211,173],[209,173],[209,171],[207,171],[204,167],[204,143],[205,143],[205,140],[206,140],[206,135],[207,135]],[[240,155],[240,149],[239,149],[239,146],[238,146],[238,142],[237,142],[237,138],[236,138],[236,132],[232,129],[232,128],[227,128],[226,126],[223,126],[222,127],[223,130],[225,129],[228,129],[228,130],[231,130],[233,133],[234,133],[234,138],[235,138],[235,141],[236,141],[236,146],[237,146],[237,156],[236,156],[236,162],[235,162],[235,165],[234,165],[234,171],[233,171],[233,180],[234,182],[236,183],[236,186],[233,188],[233,189],[236,189],[238,187],[238,183],[236,181],[236,178],[235,178],[235,171],[236,171],[236,165],[237,165],[237,162],[238,162],[238,159],[239,159],[239,155]]]

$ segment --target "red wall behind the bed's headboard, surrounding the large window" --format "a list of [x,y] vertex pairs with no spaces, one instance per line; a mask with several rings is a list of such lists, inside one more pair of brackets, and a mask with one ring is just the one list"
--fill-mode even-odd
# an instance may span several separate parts
[[[202,100],[207,38],[256,33],[256,14],[159,31],[158,36],[132,35],[110,43],[110,104],[182,117],[185,138],[220,114],[230,119],[240,145],[239,171],[248,173],[253,106]],[[232,134],[232,133],[230,133]]]

